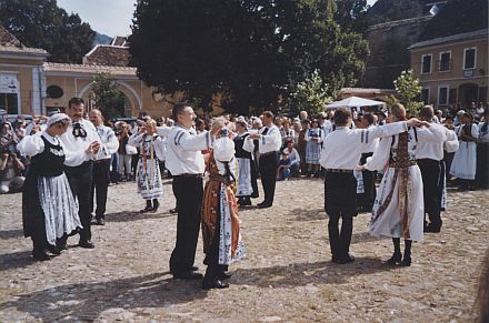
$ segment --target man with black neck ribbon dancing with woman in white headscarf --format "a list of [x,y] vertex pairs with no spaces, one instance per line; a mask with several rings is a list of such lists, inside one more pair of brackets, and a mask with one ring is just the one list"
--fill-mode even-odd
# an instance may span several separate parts
[[[68,102],[68,115],[71,118],[71,125],[68,127],[68,131],[61,135],[60,140],[63,143],[66,150],[79,151],[83,150],[87,153],[84,161],[69,160],[71,155],[67,152],[67,160],[64,161],[66,174],[70,182],[71,191],[78,200],[79,216],[83,229],[80,230],[81,248],[92,249],[94,248],[91,241],[90,230],[90,191],[92,184],[93,174],[93,154],[97,154],[100,150],[100,137],[97,133],[97,129],[93,124],[83,119],[84,102],[81,98],[72,98]],[[67,249],[67,236],[60,239],[57,244],[60,250]]]

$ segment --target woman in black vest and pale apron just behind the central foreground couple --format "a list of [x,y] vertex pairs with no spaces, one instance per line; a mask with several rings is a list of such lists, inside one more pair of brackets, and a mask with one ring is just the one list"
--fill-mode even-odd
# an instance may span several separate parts
[[257,168],[252,159],[255,144],[246,140],[250,133],[244,121],[236,122],[238,134],[234,137],[236,159],[238,160],[238,190],[236,196],[239,205],[251,205],[250,198],[258,198]]

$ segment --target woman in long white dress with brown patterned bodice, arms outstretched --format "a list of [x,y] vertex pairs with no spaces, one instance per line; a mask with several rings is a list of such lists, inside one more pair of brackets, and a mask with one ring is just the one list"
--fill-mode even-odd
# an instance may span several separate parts
[[[390,122],[406,120],[401,104],[390,108]],[[416,162],[419,141],[441,141],[443,133],[431,128],[409,128],[407,132],[383,138],[373,155],[359,170],[382,170],[383,173],[373,204],[369,233],[375,236],[392,238],[395,252],[389,264],[411,265],[412,241],[423,239],[422,178]],[[405,255],[400,251],[400,239],[405,239]]]

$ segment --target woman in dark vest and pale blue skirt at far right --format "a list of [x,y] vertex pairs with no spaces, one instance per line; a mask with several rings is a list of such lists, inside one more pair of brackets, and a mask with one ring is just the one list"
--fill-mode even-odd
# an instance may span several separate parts
[[477,139],[479,128],[473,123],[472,114],[466,112],[462,117],[462,124],[455,130],[459,138],[459,150],[453,155],[450,174],[459,181],[459,189],[473,188],[477,169]]

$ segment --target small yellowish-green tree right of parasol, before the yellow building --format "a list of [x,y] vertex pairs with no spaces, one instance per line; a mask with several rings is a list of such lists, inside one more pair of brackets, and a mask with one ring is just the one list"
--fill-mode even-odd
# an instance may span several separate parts
[[405,105],[408,115],[417,115],[423,102],[418,101],[422,87],[412,74],[412,70],[402,71],[393,81],[393,87],[399,95],[399,101]]

